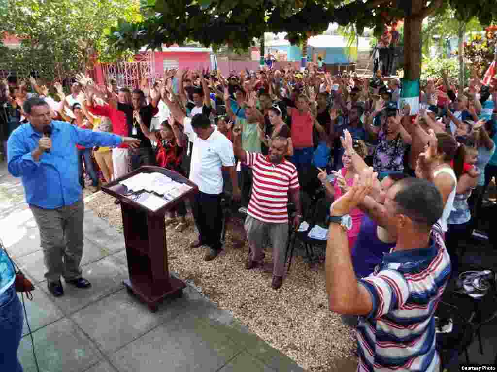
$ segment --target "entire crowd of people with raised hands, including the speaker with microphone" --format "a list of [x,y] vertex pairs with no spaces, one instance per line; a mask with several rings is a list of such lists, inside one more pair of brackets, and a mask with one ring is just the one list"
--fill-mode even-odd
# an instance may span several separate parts
[[[245,268],[260,264],[269,236],[275,290],[289,229],[315,219],[309,206],[324,190],[329,305],[357,327],[359,370],[440,365],[433,314],[497,174],[497,78],[486,85],[473,73],[468,86],[457,86],[441,71],[423,84],[415,115],[399,79],[380,70],[373,78],[332,76],[313,63],[227,77],[167,70],[133,90],[78,75],[68,96],[52,84],[58,101],[35,79],[27,85],[15,76],[0,84],[4,152],[10,173],[23,179],[54,296],[63,295],[61,276],[89,286],[79,269],[81,187],[83,174],[101,182],[93,159],[103,182],[142,165],[189,177],[198,186],[191,202],[198,239],[190,246],[209,247],[208,261],[223,249],[222,198],[240,201]],[[78,173],[69,170],[73,160]],[[53,169],[60,184],[40,186],[59,180]],[[179,204],[166,225],[182,231],[187,213]],[[69,221],[71,239],[55,218]]]

